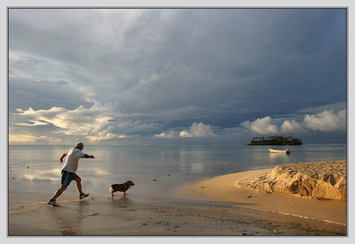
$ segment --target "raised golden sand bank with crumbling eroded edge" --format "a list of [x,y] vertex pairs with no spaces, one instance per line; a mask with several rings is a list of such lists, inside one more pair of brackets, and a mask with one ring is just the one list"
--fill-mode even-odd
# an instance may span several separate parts
[[236,179],[234,184],[268,192],[346,201],[346,161],[282,164],[250,182]]

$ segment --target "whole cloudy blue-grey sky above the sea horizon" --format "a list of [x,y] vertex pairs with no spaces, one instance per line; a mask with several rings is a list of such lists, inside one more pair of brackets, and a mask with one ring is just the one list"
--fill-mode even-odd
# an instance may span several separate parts
[[9,9],[10,144],[346,143],[346,9]]

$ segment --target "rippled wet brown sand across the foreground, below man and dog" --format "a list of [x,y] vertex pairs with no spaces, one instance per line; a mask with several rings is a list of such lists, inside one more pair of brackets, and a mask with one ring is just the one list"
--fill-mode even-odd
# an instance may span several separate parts
[[[23,194],[23,197],[27,197]],[[135,199],[135,200],[133,200]],[[129,195],[12,206],[9,236],[341,236],[346,226],[230,205]],[[146,199],[147,200],[147,199]]]

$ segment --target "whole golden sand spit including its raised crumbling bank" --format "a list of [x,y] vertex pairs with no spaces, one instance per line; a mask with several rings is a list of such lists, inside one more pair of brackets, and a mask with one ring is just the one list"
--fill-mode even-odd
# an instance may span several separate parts
[[346,199],[346,161],[289,164],[211,177],[185,186],[184,193],[193,199],[346,224],[346,201],[320,197]]

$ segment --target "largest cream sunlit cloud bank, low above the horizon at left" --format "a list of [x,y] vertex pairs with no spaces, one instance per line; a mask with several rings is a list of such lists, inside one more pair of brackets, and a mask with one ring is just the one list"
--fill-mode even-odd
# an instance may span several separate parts
[[[130,139],[132,136],[127,133],[158,130],[161,126],[161,123],[132,121],[129,114],[123,115],[116,111],[116,104],[113,103],[102,105],[97,102],[91,108],[79,106],[73,110],[58,107],[48,110],[18,109],[17,113],[11,113],[11,115],[12,120],[31,122],[11,123],[13,125],[32,127],[53,125],[55,128],[52,133],[57,137],[76,135],[83,136],[90,141]],[[33,140],[35,139],[32,138]]]

